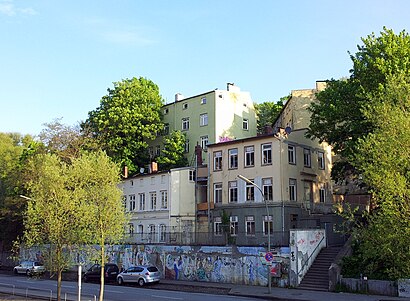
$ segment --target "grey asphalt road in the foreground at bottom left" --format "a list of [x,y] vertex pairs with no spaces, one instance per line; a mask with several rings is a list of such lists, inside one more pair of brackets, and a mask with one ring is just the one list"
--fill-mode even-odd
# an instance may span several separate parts
[[[94,300],[94,296],[98,299],[99,284],[97,283],[83,283],[82,284],[82,301]],[[0,274],[0,291],[11,293],[12,290],[19,293],[29,295],[43,295],[49,297],[51,294],[55,297],[57,290],[57,282],[48,279],[35,279],[26,276],[1,275]],[[201,289],[200,289],[201,290]],[[66,297],[67,300],[77,300],[78,284],[71,281],[63,281],[62,283],[62,299]],[[136,286],[117,286],[105,285],[104,289],[105,301],[153,301],[153,300],[171,300],[171,301],[250,301],[260,300],[254,298],[242,298],[238,296],[204,294],[201,292],[185,292],[185,291],[171,291],[156,289],[155,285],[147,287]]]

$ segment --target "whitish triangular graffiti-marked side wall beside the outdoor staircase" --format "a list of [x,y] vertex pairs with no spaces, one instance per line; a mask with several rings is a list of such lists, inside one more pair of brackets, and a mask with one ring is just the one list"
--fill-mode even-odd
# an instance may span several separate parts
[[325,229],[290,230],[290,285],[297,287],[320,250],[326,247]]

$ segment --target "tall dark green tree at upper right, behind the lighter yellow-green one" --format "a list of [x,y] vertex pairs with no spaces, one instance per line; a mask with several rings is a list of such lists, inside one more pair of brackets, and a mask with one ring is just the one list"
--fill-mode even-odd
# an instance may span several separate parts
[[307,136],[328,142],[341,158],[332,170],[336,180],[346,175],[357,178],[361,172],[352,166],[352,156],[357,153],[359,139],[375,129],[365,110],[384,102],[378,95],[389,78],[400,75],[404,81],[410,80],[410,37],[405,31],[396,35],[384,28],[379,37],[371,34],[362,42],[358,52],[350,55],[351,76],[328,81],[309,108],[312,116]]

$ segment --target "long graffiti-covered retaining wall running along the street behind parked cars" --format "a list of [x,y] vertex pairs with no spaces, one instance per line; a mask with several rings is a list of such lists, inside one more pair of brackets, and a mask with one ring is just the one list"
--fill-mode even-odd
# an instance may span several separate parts
[[[108,261],[118,264],[120,268],[152,264],[162,271],[166,279],[258,286],[268,285],[265,253],[262,247],[230,246],[117,245],[107,250]],[[41,257],[38,250],[34,249],[22,254],[25,259]],[[81,256],[81,261],[87,262],[85,269],[97,259],[97,252]],[[273,263],[280,269],[276,269],[272,277],[273,286],[287,287],[289,248],[277,249]]]

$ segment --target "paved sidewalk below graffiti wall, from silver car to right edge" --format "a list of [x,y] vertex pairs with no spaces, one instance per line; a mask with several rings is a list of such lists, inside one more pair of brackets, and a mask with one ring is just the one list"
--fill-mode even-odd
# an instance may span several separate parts
[[235,285],[229,283],[215,283],[215,282],[198,282],[198,281],[176,281],[163,279],[162,283],[174,285],[187,285],[200,287],[216,287],[230,289],[229,295],[245,296],[260,298],[264,300],[303,300],[303,301],[410,301],[410,298],[399,298],[379,295],[363,295],[351,293],[332,293],[310,291],[302,289],[287,289],[272,287],[271,293],[268,292],[268,287],[251,286],[251,285]]

